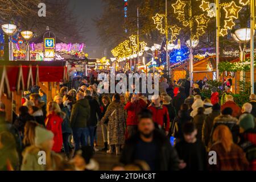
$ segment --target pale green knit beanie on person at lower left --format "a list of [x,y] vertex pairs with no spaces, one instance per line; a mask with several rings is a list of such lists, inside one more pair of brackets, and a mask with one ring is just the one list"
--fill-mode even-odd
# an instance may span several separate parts
[[40,146],[41,143],[53,139],[54,134],[52,131],[46,130],[43,127],[36,126],[35,127],[35,145]]

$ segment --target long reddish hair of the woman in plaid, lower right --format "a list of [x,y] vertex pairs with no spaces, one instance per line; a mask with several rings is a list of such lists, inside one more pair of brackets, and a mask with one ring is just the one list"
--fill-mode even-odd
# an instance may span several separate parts
[[213,142],[220,142],[226,152],[230,152],[233,144],[232,133],[226,125],[219,125],[213,132]]

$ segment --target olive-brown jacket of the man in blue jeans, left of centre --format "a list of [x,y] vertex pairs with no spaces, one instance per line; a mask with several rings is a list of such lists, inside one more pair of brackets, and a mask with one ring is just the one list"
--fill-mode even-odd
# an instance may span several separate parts
[[89,101],[85,98],[73,105],[71,112],[71,128],[85,128],[90,117]]

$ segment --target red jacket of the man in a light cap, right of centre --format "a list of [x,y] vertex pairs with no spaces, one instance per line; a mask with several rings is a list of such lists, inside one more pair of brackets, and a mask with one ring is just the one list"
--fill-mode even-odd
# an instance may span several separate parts
[[166,131],[169,131],[170,128],[170,118],[168,109],[166,106],[161,105],[160,107],[155,107],[154,105],[148,106],[148,110],[151,110],[153,114],[153,121],[162,126],[166,123]]

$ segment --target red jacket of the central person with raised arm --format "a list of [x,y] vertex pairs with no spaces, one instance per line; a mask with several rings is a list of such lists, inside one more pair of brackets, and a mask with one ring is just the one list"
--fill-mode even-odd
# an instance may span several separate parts
[[126,124],[127,126],[134,126],[138,125],[138,114],[141,112],[142,109],[147,107],[147,103],[142,99],[131,103],[130,101],[127,102],[125,106],[125,110],[127,110],[127,119]]

